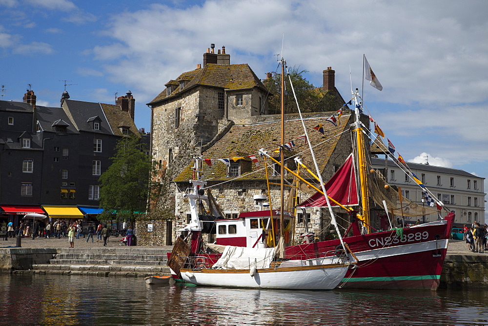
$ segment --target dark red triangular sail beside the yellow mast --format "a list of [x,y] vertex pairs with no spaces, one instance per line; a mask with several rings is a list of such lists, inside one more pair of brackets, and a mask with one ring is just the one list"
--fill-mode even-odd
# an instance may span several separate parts
[[[346,205],[358,205],[358,191],[356,187],[356,174],[354,173],[354,161],[352,154],[350,154],[346,162],[342,164],[339,170],[334,173],[332,178],[325,183],[325,190],[327,196],[336,202]],[[330,202],[331,206],[338,206],[334,202]],[[297,207],[322,207],[327,206],[325,196],[320,192],[316,192],[309,197],[305,202]]]

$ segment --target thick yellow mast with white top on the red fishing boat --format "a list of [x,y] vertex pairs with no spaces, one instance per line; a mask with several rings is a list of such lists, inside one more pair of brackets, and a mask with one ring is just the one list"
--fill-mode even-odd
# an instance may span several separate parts
[[361,102],[358,101],[358,89],[353,94],[354,96],[354,104],[356,108],[356,122],[355,122],[355,132],[356,132],[356,143],[357,143],[357,151],[358,151],[358,174],[359,174],[359,182],[360,182],[360,190],[361,190],[361,204],[363,207],[363,214],[361,215],[358,213],[358,218],[366,224],[366,229],[368,233],[370,232],[369,229],[369,196],[367,191],[367,166],[366,166],[366,153],[365,153],[365,143],[363,137],[363,128],[361,126]]

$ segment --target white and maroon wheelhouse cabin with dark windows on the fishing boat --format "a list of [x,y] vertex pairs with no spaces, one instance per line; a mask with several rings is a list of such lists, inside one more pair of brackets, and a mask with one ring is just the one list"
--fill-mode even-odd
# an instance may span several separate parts
[[[270,222],[272,218],[273,224]],[[289,232],[290,222],[294,218],[290,212],[284,212],[285,238]],[[280,211],[273,210],[272,215],[269,210],[259,210],[254,212],[244,212],[239,214],[238,219],[216,220],[215,240],[217,245],[234,245],[249,248],[266,248],[274,244],[272,236],[274,231],[275,239],[278,241],[280,235]]]

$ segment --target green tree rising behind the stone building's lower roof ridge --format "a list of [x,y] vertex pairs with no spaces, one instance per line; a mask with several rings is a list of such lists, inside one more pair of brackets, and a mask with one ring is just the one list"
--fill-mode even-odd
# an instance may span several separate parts
[[[308,82],[304,74],[307,70],[299,70],[297,67],[289,68],[289,76],[297,95],[302,112],[335,111],[335,95],[325,92]],[[269,98],[269,114],[281,113],[281,73],[274,73],[271,78],[263,81],[264,86],[273,96]],[[293,96],[290,79],[285,74],[285,113],[298,113],[297,104]]]

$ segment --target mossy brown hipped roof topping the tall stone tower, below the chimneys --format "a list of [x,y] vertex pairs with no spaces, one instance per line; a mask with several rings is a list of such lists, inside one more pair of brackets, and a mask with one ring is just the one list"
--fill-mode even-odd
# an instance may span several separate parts
[[169,96],[167,96],[166,90],[164,90],[151,102],[147,103],[147,105],[152,105],[173,96],[181,95],[180,93],[182,91],[185,92],[197,85],[220,87],[230,90],[248,89],[253,87],[260,87],[264,90],[266,89],[261,80],[256,76],[256,74],[254,74],[251,67],[249,67],[247,63],[207,64],[202,69],[184,72],[176,79],[176,81],[171,80],[165,85],[179,85],[179,82],[183,80],[190,81],[184,86],[183,90],[181,90],[178,86]]

